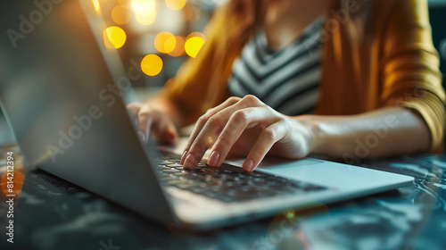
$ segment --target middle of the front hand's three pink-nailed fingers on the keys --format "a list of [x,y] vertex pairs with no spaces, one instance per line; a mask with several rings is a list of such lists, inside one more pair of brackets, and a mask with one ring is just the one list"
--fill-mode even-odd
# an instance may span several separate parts
[[223,129],[214,146],[212,146],[208,164],[215,167],[221,165],[245,129],[252,128],[258,124],[268,127],[281,119],[283,118],[268,106],[245,108],[233,112],[225,129]]

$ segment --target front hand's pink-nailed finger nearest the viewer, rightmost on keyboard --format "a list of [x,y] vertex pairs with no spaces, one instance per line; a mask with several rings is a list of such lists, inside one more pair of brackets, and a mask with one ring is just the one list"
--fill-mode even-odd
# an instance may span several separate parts
[[263,160],[268,151],[277,143],[278,140],[285,137],[286,130],[280,122],[275,122],[264,129],[246,159],[242,168],[244,171],[253,171]]

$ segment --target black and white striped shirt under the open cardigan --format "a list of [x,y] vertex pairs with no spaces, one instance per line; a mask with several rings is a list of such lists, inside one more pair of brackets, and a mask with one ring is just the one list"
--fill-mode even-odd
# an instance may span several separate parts
[[233,64],[228,86],[232,95],[257,96],[286,115],[314,112],[321,79],[322,24],[322,18],[313,21],[280,51],[272,51],[264,33],[259,33]]

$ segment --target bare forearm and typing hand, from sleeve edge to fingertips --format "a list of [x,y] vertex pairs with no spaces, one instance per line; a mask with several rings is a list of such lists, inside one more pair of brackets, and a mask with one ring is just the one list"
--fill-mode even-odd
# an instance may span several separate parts
[[231,97],[199,119],[181,162],[194,168],[211,148],[209,165],[218,167],[235,152],[246,155],[244,171],[253,171],[266,154],[298,159],[316,153],[353,163],[423,152],[429,146],[425,122],[402,107],[349,116],[290,117],[245,96]]

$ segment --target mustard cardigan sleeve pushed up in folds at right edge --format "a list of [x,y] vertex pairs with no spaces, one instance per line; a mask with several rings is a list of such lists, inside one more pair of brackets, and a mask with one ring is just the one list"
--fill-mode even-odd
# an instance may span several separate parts
[[431,134],[431,151],[442,146],[445,94],[425,0],[394,1],[384,34],[381,63],[385,105],[417,111]]

